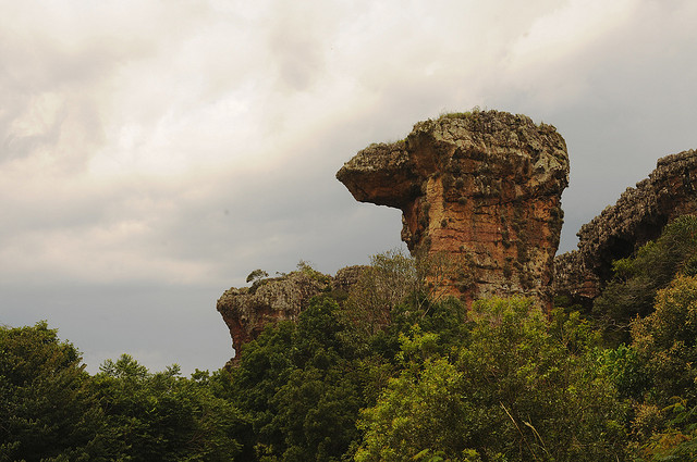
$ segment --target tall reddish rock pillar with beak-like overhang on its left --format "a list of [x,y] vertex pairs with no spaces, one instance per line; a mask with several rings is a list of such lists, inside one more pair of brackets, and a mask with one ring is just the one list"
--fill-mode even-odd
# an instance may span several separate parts
[[568,184],[566,145],[553,126],[497,111],[450,114],[417,123],[405,140],[369,146],[337,177],[356,200],[402,210],[413,254],[457,262],[447,294],[551,303]]

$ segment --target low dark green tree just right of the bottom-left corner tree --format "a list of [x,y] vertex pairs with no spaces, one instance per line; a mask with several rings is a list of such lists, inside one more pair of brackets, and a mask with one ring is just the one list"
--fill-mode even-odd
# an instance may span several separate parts
[[178,366],[150,373],[132,357],[106,361],[93,378],[113,460],[230,461],[240,453],[241,413],[216,397],[208,374],[186,379]]

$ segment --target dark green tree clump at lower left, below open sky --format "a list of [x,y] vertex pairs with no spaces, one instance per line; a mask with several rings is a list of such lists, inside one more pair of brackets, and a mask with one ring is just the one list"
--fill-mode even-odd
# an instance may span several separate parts
[[219,377],[133,358],[89,376],[46,323],[0,327],[0,461],[230,461],[244,420]]

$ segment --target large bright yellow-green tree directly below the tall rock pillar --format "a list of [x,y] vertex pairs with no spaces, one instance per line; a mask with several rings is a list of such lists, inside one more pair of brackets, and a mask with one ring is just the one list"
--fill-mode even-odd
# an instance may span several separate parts
[[362,414],[357,461],[624,458],[623,407],[595,357],[525,300],[482,301],[472,317],[449,354],[435,334],[402,341],[402,373]]

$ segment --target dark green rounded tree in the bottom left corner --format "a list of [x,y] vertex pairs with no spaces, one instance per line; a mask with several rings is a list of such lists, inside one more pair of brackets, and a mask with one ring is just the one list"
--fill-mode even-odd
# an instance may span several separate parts
[[84,369],[46,322],[0,327],[0,460],[105,460],[105,419]]

